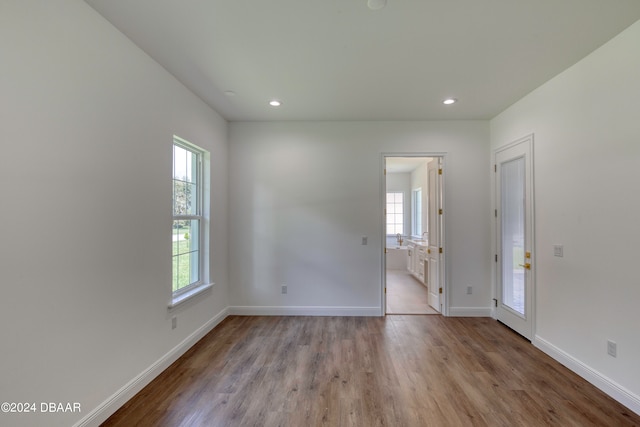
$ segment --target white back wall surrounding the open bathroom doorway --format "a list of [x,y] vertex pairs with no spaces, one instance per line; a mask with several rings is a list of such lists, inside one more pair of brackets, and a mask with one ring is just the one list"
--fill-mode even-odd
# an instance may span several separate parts
[[425,152],[447,153],[452,312],[488,314],[488,140],[481,121],[231,123],[232,312],[379,314],[381,155]]

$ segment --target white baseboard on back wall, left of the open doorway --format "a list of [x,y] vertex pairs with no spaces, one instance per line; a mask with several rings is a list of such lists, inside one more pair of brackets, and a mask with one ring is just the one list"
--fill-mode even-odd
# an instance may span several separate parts
[[229,307],[230,315],[238,316],[365,316],[380,317],[380,307]]

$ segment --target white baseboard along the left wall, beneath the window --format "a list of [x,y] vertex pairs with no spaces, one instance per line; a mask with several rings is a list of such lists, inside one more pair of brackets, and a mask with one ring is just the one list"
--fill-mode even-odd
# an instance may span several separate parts
[[129,399],[135,396],[136,393],[149,384],[155,377],[160,375],[162,371],[178,360],[180,356],[186,353],[187,350],[193,347],[195,343],[215,328],[228,315],[228,309],[225,308],[207,323],[196,329],[195,332],[185,338],[180,344],[172,348],[167,354],[162,356],[155,363],[125,384],[124,387],[111,395],[111,397],[98,405],[98,407],[89,412],[85,417],[74,424],[74,427],[92,427],[100,425]]

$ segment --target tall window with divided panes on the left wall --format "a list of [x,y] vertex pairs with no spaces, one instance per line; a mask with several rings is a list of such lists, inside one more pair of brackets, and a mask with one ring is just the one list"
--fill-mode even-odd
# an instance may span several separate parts
[[[205,284],[204,168],[206,152],[178,138],[173,140],[173,303]],[[206,196],[206,197],[205,197]],[[177,301],[177,302],[176,302]]]

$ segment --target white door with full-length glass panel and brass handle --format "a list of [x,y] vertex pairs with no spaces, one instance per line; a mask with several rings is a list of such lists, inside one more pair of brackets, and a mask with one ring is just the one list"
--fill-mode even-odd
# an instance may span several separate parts
[[533,136],[495,153],[497,217],[496,316],[533,337]]

